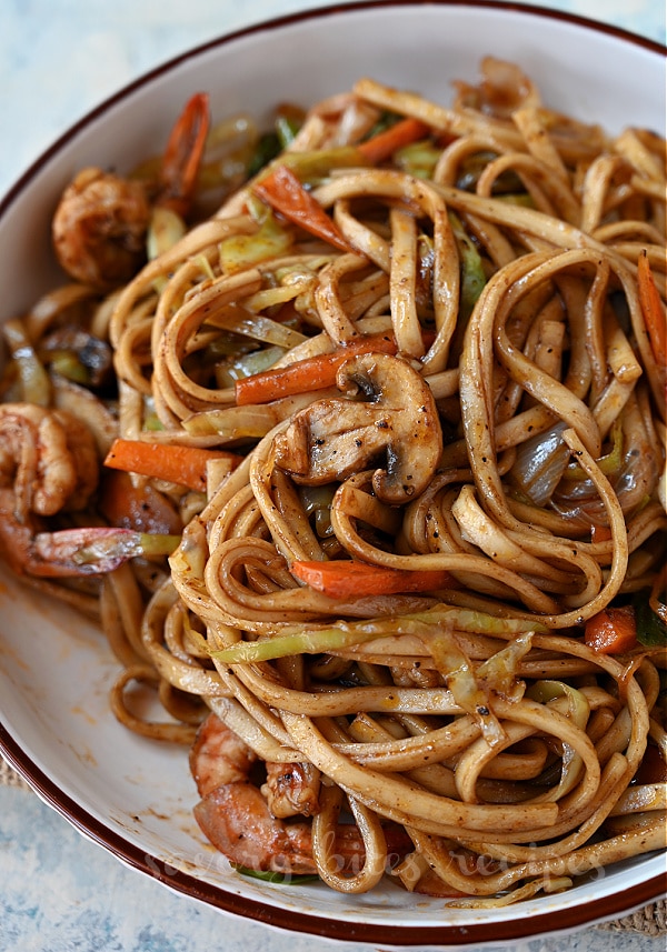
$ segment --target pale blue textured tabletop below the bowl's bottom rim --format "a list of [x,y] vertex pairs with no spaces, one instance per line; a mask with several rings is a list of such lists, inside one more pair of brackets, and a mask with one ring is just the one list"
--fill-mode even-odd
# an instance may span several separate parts
[[[512,949],[664,952],[665,939],[587,929]],[[186,950],[372,952],[372,946],[335,945],[202,908],[119,863],[29,791],[0,788],[0,952]]]

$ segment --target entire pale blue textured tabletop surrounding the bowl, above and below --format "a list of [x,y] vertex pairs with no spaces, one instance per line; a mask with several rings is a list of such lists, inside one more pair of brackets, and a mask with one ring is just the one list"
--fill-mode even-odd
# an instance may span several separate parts
[[[303,0],[0,0],[0,194],[62,130],[137,76],[212,37],[320,6]],[[660,0],[535,6],[665,42]],[[663,952],[665,940],[588,929],[514,948]],[[0,952],[195,949],[369,952],[370,946],[288,935],[200,906],[119,863],[30,792],[0,788]]]

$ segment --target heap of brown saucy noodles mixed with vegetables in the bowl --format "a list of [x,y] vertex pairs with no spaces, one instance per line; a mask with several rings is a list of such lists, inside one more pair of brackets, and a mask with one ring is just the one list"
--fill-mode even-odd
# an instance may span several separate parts
[[[412,141],[360,146],[388,117],[417,120]],[[359,80],[225,188],[120,288],[70,284],[10,322],[47,368],[44,412],[87,419],[98,455],[116,437],[210,451],[205,491],[138,470],[123,513],[104,470],[39,525],[176,534],[168,559],[22,567],[100,617],[115,713],[195,743],[196,776],[216,742],[227,769],[227,731],[242,742],[197,813],[241,869],[303,871],[226,826],[249,784],[270,804],[262,763],[311,794],[267,831],[298,831],[342,892],[388,874],[504,904],[663,849],[664,141],[556,113],[487,59],[449,107]],[[111,395],[56,362],[74,323],[110,348]],[[7,405],[39,402],[17,361]]]

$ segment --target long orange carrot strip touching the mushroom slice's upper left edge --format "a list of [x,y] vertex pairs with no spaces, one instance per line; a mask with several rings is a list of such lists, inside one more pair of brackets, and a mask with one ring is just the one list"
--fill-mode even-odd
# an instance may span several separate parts
[[330,353],[307,357],[287,367],[265,370],[235,382],[236,402],[242,407],[248,403],[269,403],[281,397],[295,393],[308,393],[310,390],[325,390],[334,387],[338,368],[350,357],[358,353],[391,353],[398,348],[390,333],[367,334],[355,338],[345,347]]

